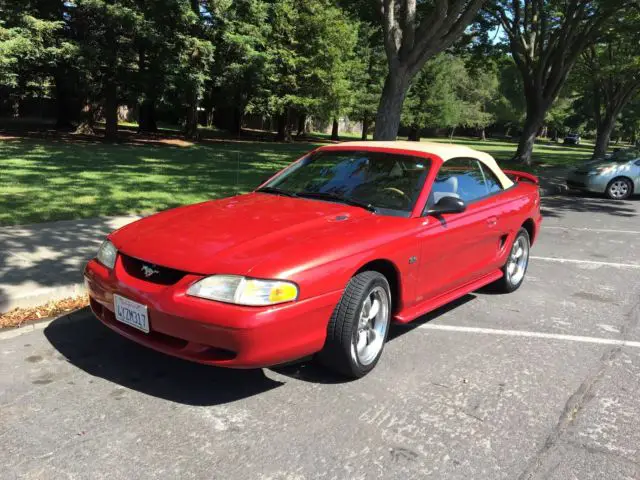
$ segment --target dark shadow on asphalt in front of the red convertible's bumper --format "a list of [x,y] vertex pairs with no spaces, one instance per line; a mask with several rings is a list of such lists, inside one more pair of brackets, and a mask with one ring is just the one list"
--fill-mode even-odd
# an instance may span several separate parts
[[90,375],[177,403],[220,405],[283,385],[263,370],[200,365],[138,345],[102,325],[88,308],[44,330],[51,345]]

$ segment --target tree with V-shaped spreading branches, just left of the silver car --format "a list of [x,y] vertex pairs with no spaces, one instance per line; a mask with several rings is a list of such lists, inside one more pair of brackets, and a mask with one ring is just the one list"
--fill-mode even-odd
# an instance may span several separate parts
[[520,71],[526,120],[514,160],[530,164],[536,136],[580,54],[625,0],[497,0],[489,9]]

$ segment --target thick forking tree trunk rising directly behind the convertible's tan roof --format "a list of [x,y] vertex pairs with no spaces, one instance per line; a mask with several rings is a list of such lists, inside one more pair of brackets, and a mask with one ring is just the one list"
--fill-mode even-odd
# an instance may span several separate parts
[[388,74],[376,115],[375,140],[394,140],[407,89],[425,62],[451,46],[485,0],[379,0]]

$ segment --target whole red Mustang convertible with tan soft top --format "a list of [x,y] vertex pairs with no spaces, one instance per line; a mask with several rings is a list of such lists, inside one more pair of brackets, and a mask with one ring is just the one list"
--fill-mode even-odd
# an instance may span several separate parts
[[85,281],[102,322],[161,352],[236,368],[315,355],[361,377],[390,322],[517,289],[540,222],[536,177],[485,153],[349,142],[113,232]]

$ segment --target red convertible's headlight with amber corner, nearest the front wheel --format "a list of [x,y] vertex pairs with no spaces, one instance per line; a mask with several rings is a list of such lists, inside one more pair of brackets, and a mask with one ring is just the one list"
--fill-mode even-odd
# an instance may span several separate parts
[[213,275],[191,285],[187,295],[237,305],[265,306],[296,300],[298,287],[282,280]]

